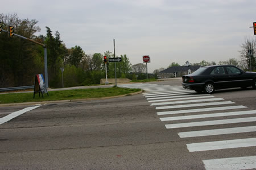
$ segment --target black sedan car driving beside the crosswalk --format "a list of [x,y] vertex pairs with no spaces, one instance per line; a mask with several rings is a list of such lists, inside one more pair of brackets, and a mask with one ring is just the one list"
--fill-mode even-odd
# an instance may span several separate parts
[[233,65],[200,67],[192,74],[182,76],[182,86],[196,92],[213,93],[216,89],[256,86],[256,72],[244,72]]

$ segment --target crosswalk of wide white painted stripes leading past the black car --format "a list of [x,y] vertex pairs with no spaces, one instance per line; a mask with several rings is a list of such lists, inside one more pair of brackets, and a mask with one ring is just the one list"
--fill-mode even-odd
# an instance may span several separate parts
[[[155,109],[157,110],[156,114],[159,115],[160,121],[166,123],[165,126],[167,129],[175,128],[180,130],[181,132],[178,132],[180,138],[228,135],[256,131],[256,126],[216,129],[216,125],[231,124],[230,126],[239,126],[239,123],[243,123],[242,125],[244,125],[244,123],[247,122],[256,122],[256,110],[248,110],[246,106],[236,105],[235,102],[225,101],[224,98],[217,98],[209,94],[199,94],[192,90],[183,89],[181,86],[158,84],[123,84],[118,86],[123,88],[139,88],[146,90],[146,92],[143,93],[143,96],[151,106],[155,106]],[[237,116],[243,117],[237,118]],[[217,120],[213,118],[217,118]],[[199,119],[199,121],[197,121],[197,119]],[[202,121],[200,119],[204,120]],[[184,120],[186,121],[185,123],[182,122]],[[181,121],[182,123],[172,121]],[[183,131],[184,128],[189,129],[187,127],[191,129],[193,127],[203,128],[200,131]],[[204,130],[204,127],[208,128]],[[213,129],[209,129],[209,127]],[[249,137],[244,139],[187,143],[186,145],[189,152],[245,148],[255,147],[256,138]],[[243,157],[228,157],[224,159],[221,158],[202,161],[205,165],[205,169],[256,168],[256,154],[253,156],[248,155]]]

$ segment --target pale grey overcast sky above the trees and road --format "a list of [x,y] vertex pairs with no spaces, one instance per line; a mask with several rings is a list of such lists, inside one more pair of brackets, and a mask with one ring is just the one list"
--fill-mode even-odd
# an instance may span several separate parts
[[131,64],[150,55],[148,72],[185,64],[240,60],[245,38],[255,38],[255,0],[13,0],[1,1],[3,14],[36,19],[60,32],[68,48],[79,45],[86,54],[126,54]]

